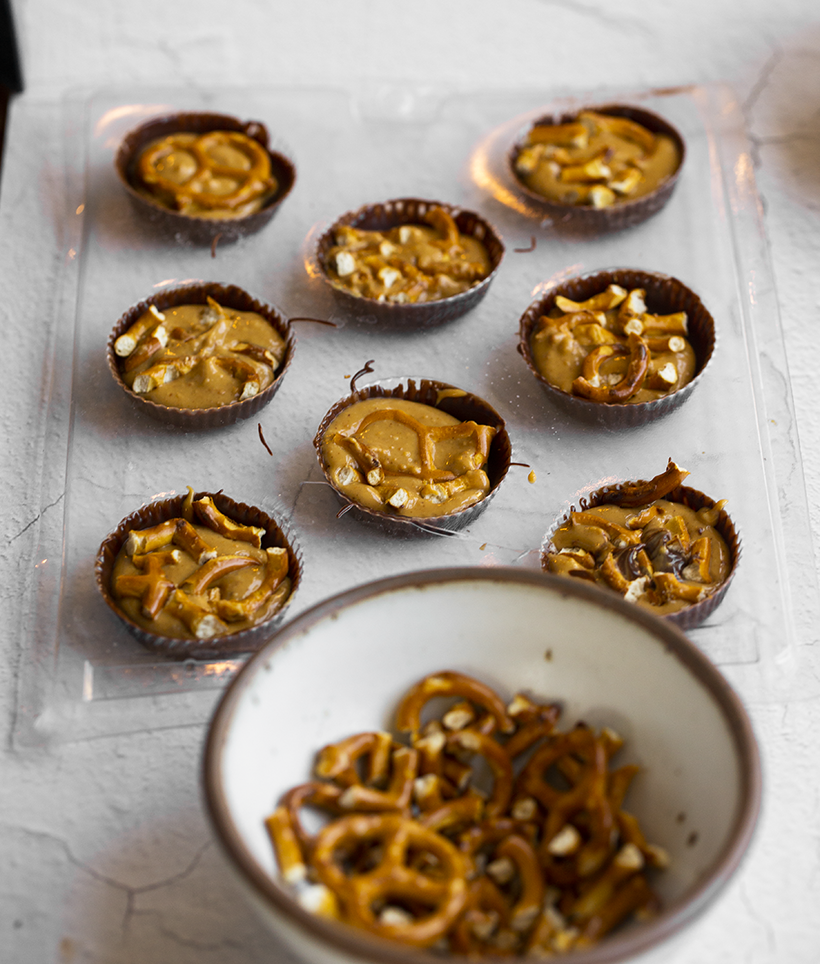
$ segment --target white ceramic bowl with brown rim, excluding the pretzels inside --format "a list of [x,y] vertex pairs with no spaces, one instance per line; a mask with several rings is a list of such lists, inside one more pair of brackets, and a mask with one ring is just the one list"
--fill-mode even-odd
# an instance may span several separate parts
[[443,569],[349,590],[293,620],[225,693],[205,749],[207,807],[249,900],[312,964],[421,964],[304,911],[279,882],[264,826],[280,795],[311,777],[316,751],[390,729],[400,697],[439,670],[505,699],[557,699],[559,726],[613,727],[617,765],[643,768],[626,799],[671,866],[653,881],[664,909],[573,964],[656,948],[702,912],[736,870],[760,804],[760,763],[742,704],[675,626],[594,586],[518,569]]

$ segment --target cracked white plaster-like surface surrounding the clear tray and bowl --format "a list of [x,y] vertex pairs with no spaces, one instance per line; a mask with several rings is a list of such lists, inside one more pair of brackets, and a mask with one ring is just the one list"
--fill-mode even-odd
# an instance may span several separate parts
[[[286,961],[252,917],[199,804],[201,727],[14,753],[17,586],[34,551],[42,452],[34,437],[65,249],[62,153],[50,119],[65,90],[351,84],[397,78],[456,89],[640,90],[725,80],[745,105],[803,449],[820,533],[820,19],[809,0],[490,0],[413,5],[88,0],[15,5],[28,90],[12,106],[0,193],[3,603],[0,958],[9,964]],[[616,12],[617,10],[617,12]],[[579,50],[581,56],[579,56]],[[31,155],[37,160],[32,163]],[[25,346],[21,353],[17,346]],[[57,496],[59,498],[59,495]],[[55,501],[49,499],[49,502]],[[816,641],[816,627],[803,626]],[[820,657],[818,657],[820,662]],[[816,672],[818,666],[812,669]],[[751,708],[766,766],[762,823],[715,908],[665,956],[813,964],[820,959],[820,704]]]

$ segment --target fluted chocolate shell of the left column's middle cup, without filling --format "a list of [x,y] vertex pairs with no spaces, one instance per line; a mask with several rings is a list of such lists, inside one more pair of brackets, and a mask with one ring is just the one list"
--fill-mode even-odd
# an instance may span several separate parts
[[[282,361],[276,369],[273,382],[268,387],[244,401],[229,402],[227,405],[219,405],[215,408],[173,408],[170,405],[160,405],[144,395],[137,395],[123,381],[118,364],[118,356],[114,351],[114,342],[121,334],[128,331],[131,325],[154,305],[158,311],[167,308],[174,308],[177,305],[204,305],[207,304],[208,297],[218,301],[224,308],[233,308],[236,311],[254,311],[261,315],[273,327],[277,334],[285,340],[285,353]],[[249,295],[242,288],[236,285],[225,285],[219,282],[203,282],[201,284],[184,285],[181,288],[168,288],[165,291],[158,291],[139,304],[129,308],[128,311],[119,319],[114,326],[114,330],[108,339],[108,368],[114,377],[114,381],[125,392],[137,411],[144,412],[151,418],[159,422],[170,425],[182,426],[191,430],[204,430],[220,428],[224,425],[233,425],[234,422],[250,418],[264,408],[270,402],[282,379],[293,361],[293,354],[296,350],[296,337],[287,317],[273,305],[258,301],[253,295]]]

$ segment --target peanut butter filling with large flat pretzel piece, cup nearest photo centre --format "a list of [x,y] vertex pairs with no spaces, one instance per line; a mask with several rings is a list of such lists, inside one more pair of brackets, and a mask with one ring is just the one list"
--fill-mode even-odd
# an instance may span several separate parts
[[328,426],[322,458],[340,491],[379,512],[448,515],[490,490],[495,429],[402,398],[355,402]]

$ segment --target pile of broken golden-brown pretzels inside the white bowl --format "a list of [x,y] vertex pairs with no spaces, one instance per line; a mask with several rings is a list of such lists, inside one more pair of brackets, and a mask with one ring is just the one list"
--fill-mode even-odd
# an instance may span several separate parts
[[622,808],[639,768],[611,766],[612,730],[561,732],[559,713],[462,673],[420,680],[396,714],[409,745],[365,732],[324,747],[267,818],[283,880],[317,914],[469,956],[552,956],[653,914],[645,871],[668,858]]

